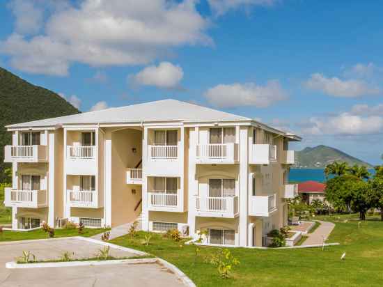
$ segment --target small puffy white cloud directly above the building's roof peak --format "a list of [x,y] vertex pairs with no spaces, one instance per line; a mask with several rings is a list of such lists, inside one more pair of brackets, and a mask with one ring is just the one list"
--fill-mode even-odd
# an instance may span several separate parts
[[136,75],[128,76],[133,84],[139,86],[157,86],[158,88],[177,88],[184,75],[180,65],[169,62],[150,65]]

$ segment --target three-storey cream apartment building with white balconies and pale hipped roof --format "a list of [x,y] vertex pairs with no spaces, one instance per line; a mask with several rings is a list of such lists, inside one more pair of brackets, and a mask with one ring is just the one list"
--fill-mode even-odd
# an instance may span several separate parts
[[146,231],[178,228],[206,244],[262,246],[287,224],[300,138],[244,116],[160,100],[8,125],[15,230],[42,221]]

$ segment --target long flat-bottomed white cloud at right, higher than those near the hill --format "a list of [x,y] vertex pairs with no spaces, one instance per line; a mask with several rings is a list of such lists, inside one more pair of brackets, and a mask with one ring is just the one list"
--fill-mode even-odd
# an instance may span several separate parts
[[321,91],[334,97],[356,98],[362,95],[377,95],[380,89],[359,79],[342,80],[337,77],[328,78],[315,73],[306,81],[306,87]]

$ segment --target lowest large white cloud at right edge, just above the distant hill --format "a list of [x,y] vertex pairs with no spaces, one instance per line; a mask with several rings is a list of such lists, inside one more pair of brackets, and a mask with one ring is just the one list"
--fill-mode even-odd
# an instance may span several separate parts
[[315,135],[359,135],[383,131],[381,116],[357,116],[347,112],[329,118],[310,118],[309,124],[311,126],[304,127],[302,132]]

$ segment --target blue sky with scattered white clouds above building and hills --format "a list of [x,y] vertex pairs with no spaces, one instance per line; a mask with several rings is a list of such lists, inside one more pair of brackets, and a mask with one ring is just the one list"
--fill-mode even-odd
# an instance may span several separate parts
[[380,1],[3,1],[0,65],[81,111],[164,98],[380,164]]

